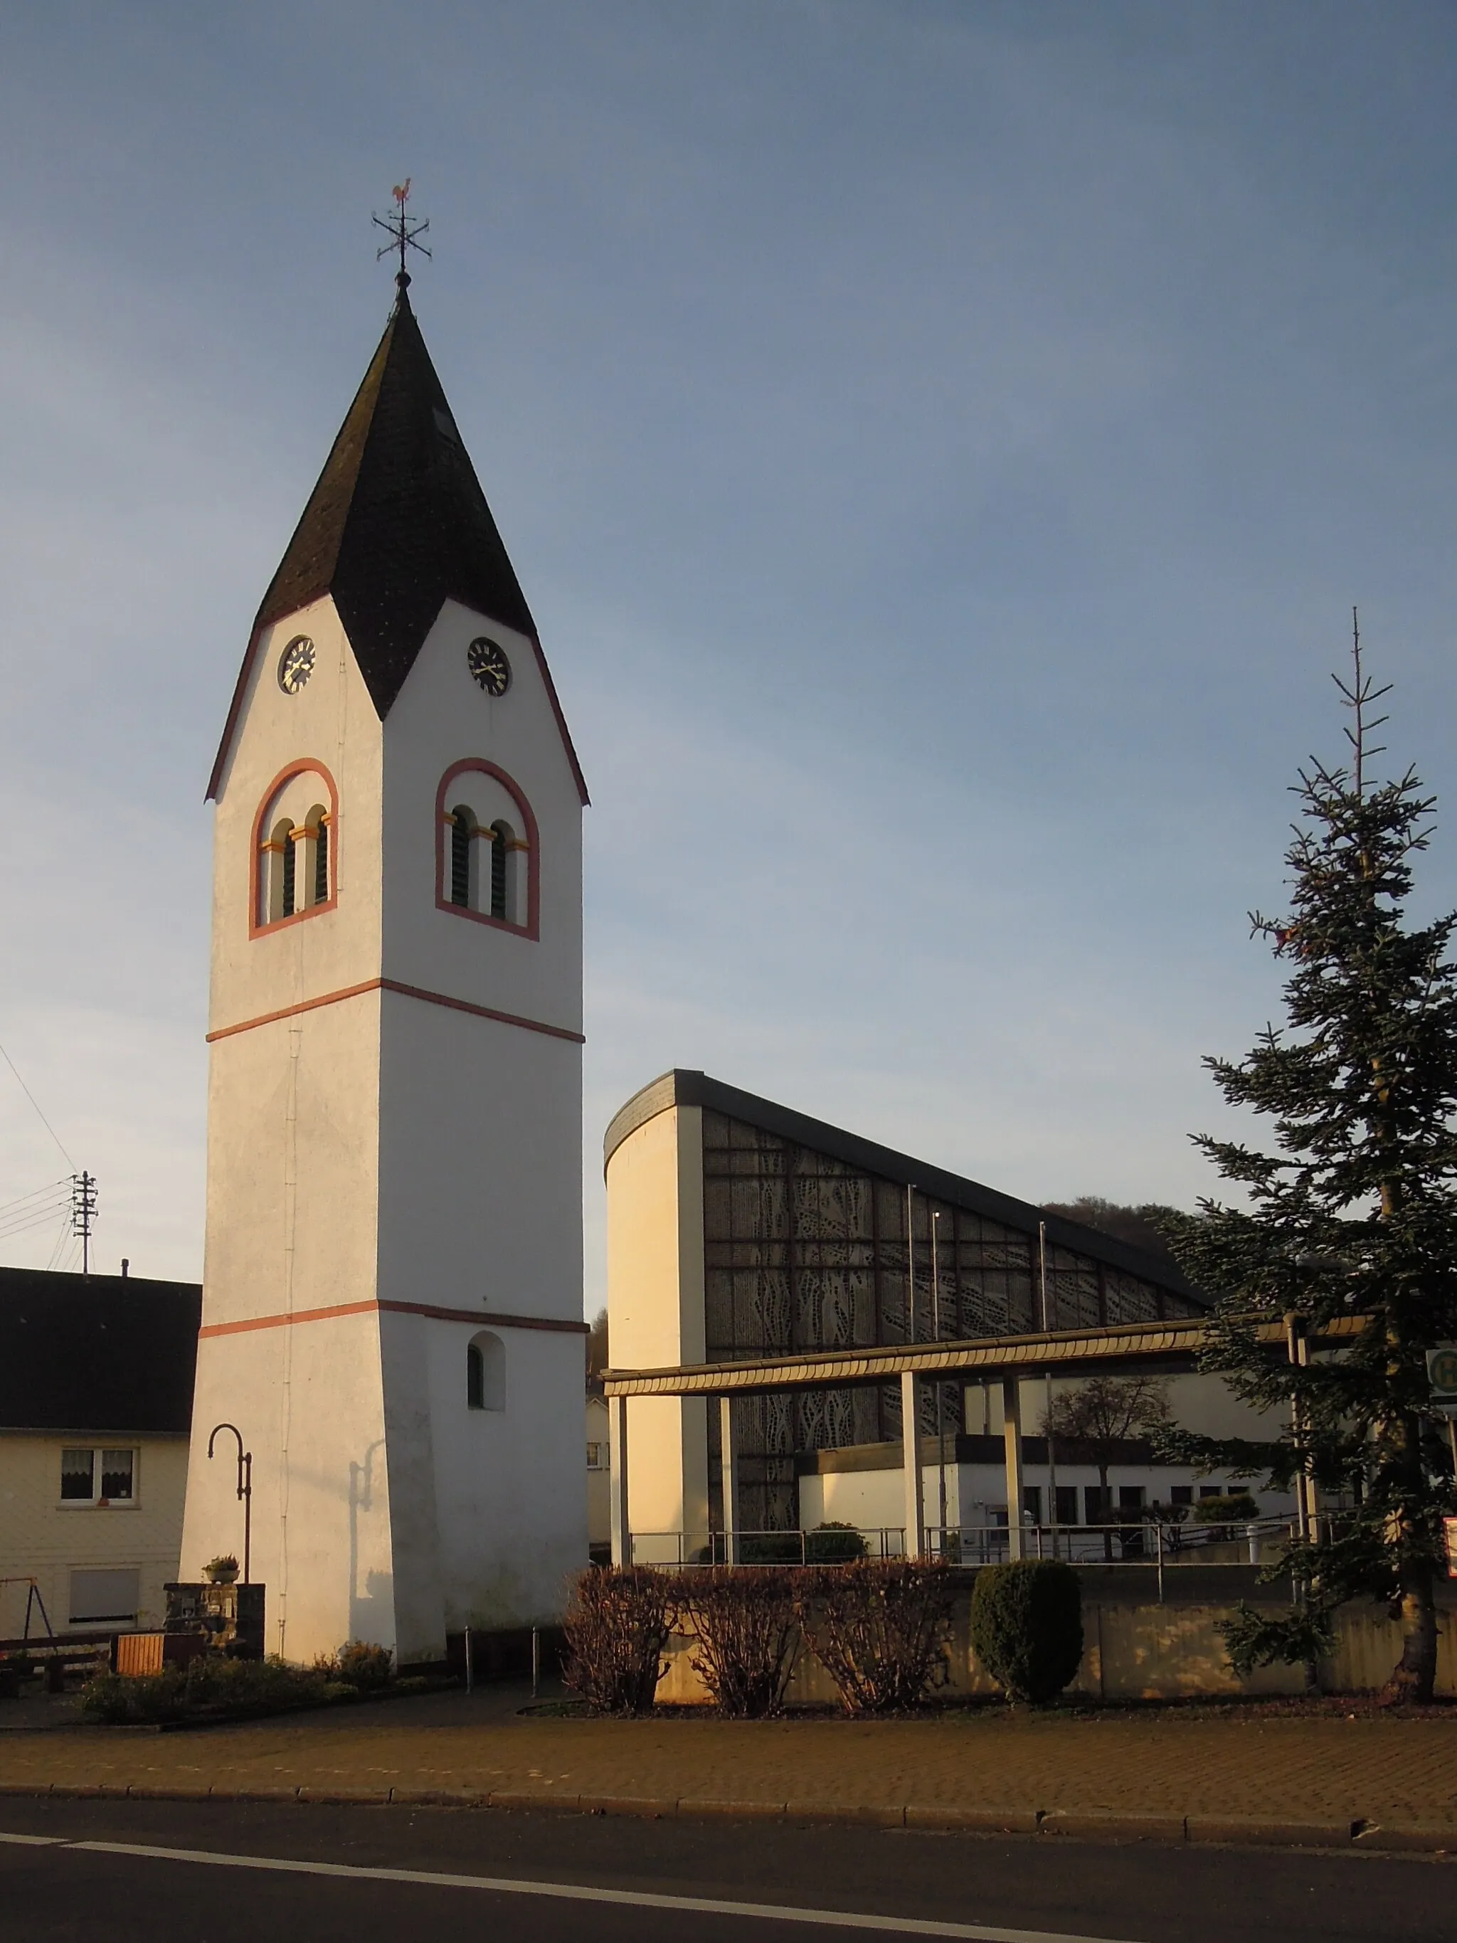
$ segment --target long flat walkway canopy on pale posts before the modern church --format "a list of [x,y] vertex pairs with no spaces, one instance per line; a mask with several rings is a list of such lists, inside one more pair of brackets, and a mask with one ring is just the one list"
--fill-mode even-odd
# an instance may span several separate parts
[[[1335,1348],[1358,1337],[1364,1315],[1346,1315],[1319,1337],[1300,1337],[1290,1321],[1255,1325],[1271,1354],[1304,1354]],[[892,1343],[878,1348],[810,1350],[791,1356],[760,1356],[738,1362],[680,1364],[664,1370],[606,1370],[612,1434],[612,1562],[631,1560],[627,1519],[627,1399],[629,1397],[717,1397],[723,1449],[723,1527],[734,1533],[734,1436],[732,1399],[785,1389],[845,1389],[857,1383],[901,1381],[901,1448],[905,1475],[905,1549],[919,1556],[925,1549],[925,1506],[921,1500],[921,1461],[917,1446],[917,1395],[921,1380],[967,1378],[999,1380],[1006,1444],[1006,1523],[1008,1549],[1022,1551],[1022,1401],[1026,1376],[1125,1376],[1177,1374],[1191,1370],[1208,1341],[1204,1317],[1152,1323],[1121,1323],[1107,1329],[1063,1329],[1045,1335],[977,1337],[966,1343]]]

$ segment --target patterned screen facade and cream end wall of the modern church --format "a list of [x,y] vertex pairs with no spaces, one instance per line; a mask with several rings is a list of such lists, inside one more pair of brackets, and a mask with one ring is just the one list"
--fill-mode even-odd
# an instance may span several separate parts
[[[1175,1271],[1072,1222],[824,1121],[674,1071],[606,1135],[612,1362],[966,1341],[1197,1315]],[[1045,1247],[1043,1247],[1045,1226]],[[1045,1286],[1045,1310],[1043,1310]],[[744,1397],[738,1525],[798,1523],[795,1457],[901,1436],[898,1383]],[[921,1430],[966,1422],[962,1383],[921,1387]],[[719,1415],[641,1399],[635,1531],[721,1529]]]

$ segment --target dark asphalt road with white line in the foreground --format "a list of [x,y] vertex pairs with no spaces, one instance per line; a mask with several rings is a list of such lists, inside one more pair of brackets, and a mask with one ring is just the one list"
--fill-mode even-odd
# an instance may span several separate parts
[[[1457,1935],[1457,1867],[1422,1858],[21,1797],[0,1799],[0,1836],[12,1838],[0,1840],[4,1943],[480,1943],[482,1935],[490,1943],[581,1943],[583,1935],[593,1943],[812,1943],[849,1931],[917,1933],[917,1922],[958,1926],[942,1935],[1037,1943],[1451,1943]],[[82,1842],[122,1848],[74,1846]],[[188,1859],[138,1848],[185,1850]],[[356,1871],[410,1871],[414,1879]],[[480,1879],[556,1892],[474,1887]],[[610,1900],[598,1900],[598,1891]],[[690,1904],[662,1906],[659,1896]],[[808,1910],[828,1920],[795,1914]]]

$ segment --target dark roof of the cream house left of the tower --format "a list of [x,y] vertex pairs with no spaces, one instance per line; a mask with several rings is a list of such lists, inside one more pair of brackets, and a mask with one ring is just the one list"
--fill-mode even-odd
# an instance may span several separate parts
[[186,1434],[202,1288],[0,1269],[0,1430]]

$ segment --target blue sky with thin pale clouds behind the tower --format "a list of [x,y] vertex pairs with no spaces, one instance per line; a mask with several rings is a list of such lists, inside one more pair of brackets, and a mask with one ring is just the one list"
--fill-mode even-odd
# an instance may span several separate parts
[[[1457,787],[1455,84],[1403,0],[12,12],[0,1041],[101,1263],[200,1273],[202,789],[406,173],[594,799],[589,1306],[668,1065],[1030,1199],[1210,1187],[1352,602]],[[0,1201],[66,1172],[0,1069]]]

